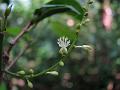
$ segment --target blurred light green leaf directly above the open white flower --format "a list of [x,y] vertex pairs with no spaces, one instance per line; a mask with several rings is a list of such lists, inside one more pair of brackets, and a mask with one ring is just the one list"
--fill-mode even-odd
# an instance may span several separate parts
[[76,37],[75,32],[61,22],[53,21],[51,23],[51,26],[54,33],[56,33],[59,37],[67,36],[71,40],[74,40],[74,38]]

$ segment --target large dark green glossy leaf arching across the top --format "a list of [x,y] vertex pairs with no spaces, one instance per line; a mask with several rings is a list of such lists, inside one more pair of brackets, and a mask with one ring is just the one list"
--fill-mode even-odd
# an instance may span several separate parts
[[71,15],[75,15],[79,20],[83,19],[85,13],[81,5],[75,0],[53,0],[35,10],[33,21],[39,22],[49,16],[64,12],[69,12]]

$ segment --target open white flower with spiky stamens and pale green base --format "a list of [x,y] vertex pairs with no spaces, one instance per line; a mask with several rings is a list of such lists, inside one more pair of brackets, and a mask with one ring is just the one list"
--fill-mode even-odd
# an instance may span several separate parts
[[67,54],[68,52],[67,52],[67,47],[70,45],[70,40],[68,40],[68,38],[67,37],[60,37],[59,39],[58,39],[58,45],[59,45],[59,47],[61,47],[61,49],[60,49],[60,53],[63,55],[64,53],[65,54]]

